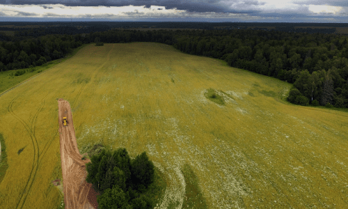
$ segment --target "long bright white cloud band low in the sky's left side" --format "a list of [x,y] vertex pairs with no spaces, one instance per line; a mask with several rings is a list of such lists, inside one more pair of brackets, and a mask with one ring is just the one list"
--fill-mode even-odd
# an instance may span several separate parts
[[[49,8],[49,9],[47,9]],[[160,10],[158,10],[160,9]],[[45,5],[0,5],[6,17],[246,17],[246,14],[189,13],[176,8],[166,10],[164,6],[64,6]],[[25,15],[23,15],[25,14]],[[253,18],[253,17],[251,17]]]

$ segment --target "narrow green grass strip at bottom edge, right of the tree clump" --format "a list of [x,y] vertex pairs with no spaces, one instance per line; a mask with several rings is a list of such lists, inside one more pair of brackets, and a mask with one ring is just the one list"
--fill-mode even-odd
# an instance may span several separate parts
[[207,208],[205,198],[202,192],[200,192],[200,188],[198,187],[198,178],[192,171],[189,164],[184,164],[184,167],[182,168],[182,174],[184,175],[186,183],[184,203],[182,203],[182,208]]

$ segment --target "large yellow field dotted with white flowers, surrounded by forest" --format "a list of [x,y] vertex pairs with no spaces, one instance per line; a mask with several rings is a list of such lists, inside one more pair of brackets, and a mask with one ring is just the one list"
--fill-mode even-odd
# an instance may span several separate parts
[[[208,208],[345,208],[348,113],[284,102],[290,87],[159,43],[88,45],[0,98],[1,208],[60,203],[50,183],[60,166],[56,98],[71,104],[80,150],[103,142],[148,153],[168,184],[157,208],[182,208],[184,165]],[[208,88],[225,92],[226,105],[207,100]]]

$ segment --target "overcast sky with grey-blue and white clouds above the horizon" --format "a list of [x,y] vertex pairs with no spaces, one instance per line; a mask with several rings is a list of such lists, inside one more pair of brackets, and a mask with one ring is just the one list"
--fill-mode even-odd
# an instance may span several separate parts
[[0,0],[0,21],[342,22],[348,0]]

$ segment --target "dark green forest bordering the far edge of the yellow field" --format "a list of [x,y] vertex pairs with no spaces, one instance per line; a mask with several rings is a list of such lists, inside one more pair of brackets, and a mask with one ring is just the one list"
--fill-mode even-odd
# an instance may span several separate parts
[[86,35],[47,34],[52,33],[49,30],[33,36],[28,31],[15,37],[1,35],[1,71],[61,59],[72,49],[94,42],[95,38],[105,43],[161,42],[187,54],[221,59],[232,67],[292,83],[294,88],[288,100],[294,104],[348,107],[346,35],[252,29],[113,29]]

